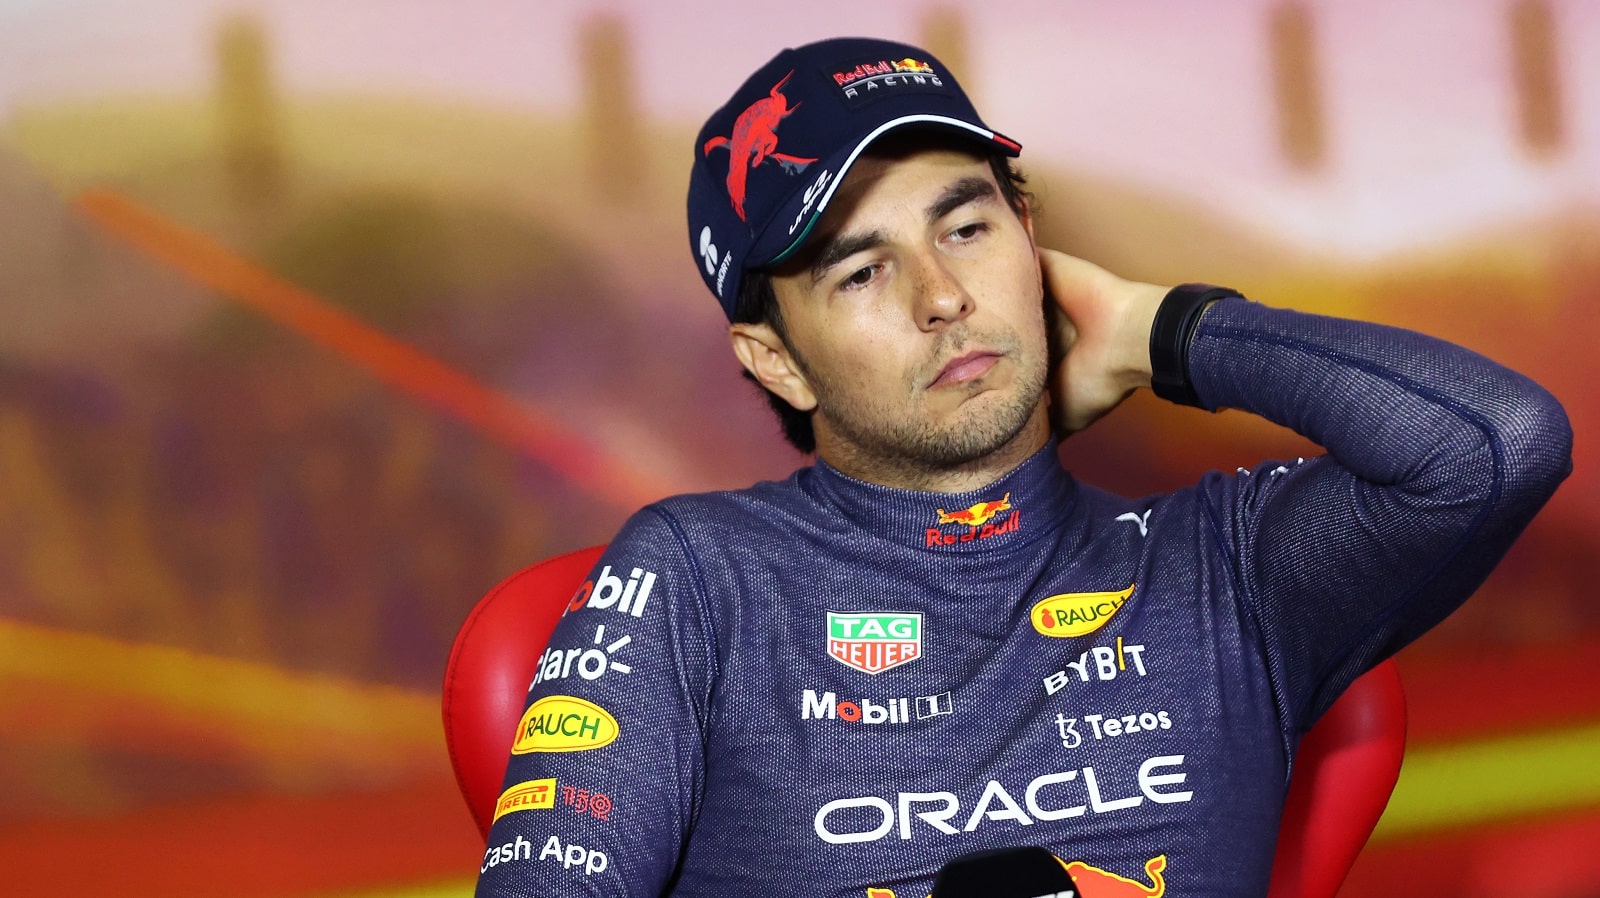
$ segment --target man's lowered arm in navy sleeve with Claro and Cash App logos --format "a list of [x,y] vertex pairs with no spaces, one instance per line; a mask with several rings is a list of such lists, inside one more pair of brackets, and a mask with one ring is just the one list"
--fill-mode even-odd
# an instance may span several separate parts
[[571,597],[528,692],[478,896],[661,895],[701,789],[714,651],[670,523],[634,515]]

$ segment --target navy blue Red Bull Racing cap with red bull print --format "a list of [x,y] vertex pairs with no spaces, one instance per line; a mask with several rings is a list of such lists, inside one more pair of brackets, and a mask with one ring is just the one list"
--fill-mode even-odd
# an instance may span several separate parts
[[896,128],[1018,155],[926,50],[846,37],[784,50],[701,128],[690,171],[690,251],[733,319],[744,272],[794,255],[861,150]]

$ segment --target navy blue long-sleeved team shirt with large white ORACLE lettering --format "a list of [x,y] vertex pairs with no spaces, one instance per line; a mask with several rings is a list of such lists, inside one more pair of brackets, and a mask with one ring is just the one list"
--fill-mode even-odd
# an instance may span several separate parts
[[1326,455],[1144,499],[1054,445],[962,495],[816,463],[635,514],[541,655],[477,893],[922,898],[1008,845],[1264,893],[1301,735],[1483,581],[1571,432],[1466,349],[1243,299],[1190,379]]

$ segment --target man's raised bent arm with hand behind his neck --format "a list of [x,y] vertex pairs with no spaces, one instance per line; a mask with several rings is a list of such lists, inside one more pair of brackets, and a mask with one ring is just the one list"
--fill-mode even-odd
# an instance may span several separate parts
[[[1046,258],[1046,274],[1069,317],[1096,301],[1120,323],[1078,325],[1085,357],[1074,367],[1069,352],[1058,370],[1066,419],[1091,421],[1109,410],[1107,384],[1149,384],[1149,322],[1166,291],[1077,259]],[[1203,407],[1261,415],[1328,450],[1202,483],[1301,730],[1466,600],[1571,471],[1555,399],[1440,339],[1226,299],[1187,354]]]

